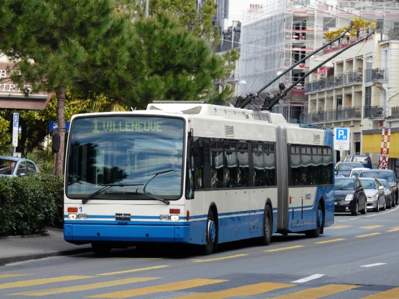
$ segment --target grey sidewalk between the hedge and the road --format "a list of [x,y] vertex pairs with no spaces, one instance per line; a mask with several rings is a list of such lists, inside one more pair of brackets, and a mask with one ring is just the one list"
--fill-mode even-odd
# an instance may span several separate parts
[[43,235],[0,237],[0,266],[89,251],[90,244],[68,243],[64,241],[62,229],[48,228]]

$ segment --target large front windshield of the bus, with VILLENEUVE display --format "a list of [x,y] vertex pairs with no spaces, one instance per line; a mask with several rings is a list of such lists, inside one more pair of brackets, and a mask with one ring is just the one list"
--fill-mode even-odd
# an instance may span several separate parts
[[[145,194],[181,197],[183,119],[76,118],[70,135],[66,172],[66,194],[70,198],[151,200]],[[100,190],[106,185],[114,187]]]

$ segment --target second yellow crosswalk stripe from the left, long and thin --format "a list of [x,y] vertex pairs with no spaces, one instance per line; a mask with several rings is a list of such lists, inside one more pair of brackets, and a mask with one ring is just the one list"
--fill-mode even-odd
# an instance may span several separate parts
[[47,289],[47,290],[39,290],[39,291],[31,291],[31,292],[21,292],[9,295],[23,295],[23,296],[46,296],[46,295],[54,295],[61,293],[70,293],[70,292],[80,292],[87,290],[96,290],[107,287],[115,287],[122,286],[127,284],[134,284],[140,282],[151,281],[155,279],[161,279],[161,277],[134,277],[134,278],[125,278],[115,281],[101,282],[89,285],[80,285],[80,286],[72,286],[65,288],[55,288],[55,289]]

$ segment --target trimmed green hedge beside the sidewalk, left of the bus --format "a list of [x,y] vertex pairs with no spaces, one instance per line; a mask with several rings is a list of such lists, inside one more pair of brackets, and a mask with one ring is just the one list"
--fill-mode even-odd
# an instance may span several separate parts
[[63,179],[53,174],[0,176],[0,236],[43,234],[60,227]]

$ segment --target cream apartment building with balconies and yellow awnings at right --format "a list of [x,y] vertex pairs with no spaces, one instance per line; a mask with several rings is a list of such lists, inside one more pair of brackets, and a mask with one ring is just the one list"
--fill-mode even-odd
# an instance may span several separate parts
[[[361,36],[362,37],[362,36]],[[323,63],[354,40],[336,43],[309,59],[309,67]],[[389,167],[399,175],[399,34],[377,33],[325,62],[305,83],[308,112],[303,120],[330,128],[348,128],[350,150],[380,161],[382,129],[390,129]]]

